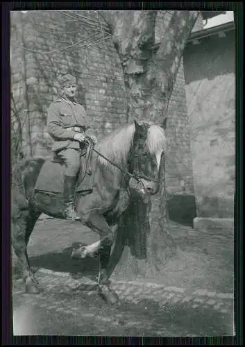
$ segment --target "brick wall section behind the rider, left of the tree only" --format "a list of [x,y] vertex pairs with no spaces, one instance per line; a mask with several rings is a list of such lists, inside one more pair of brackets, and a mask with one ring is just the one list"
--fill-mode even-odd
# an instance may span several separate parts
[[[11,77],[12,92],[17,106],[21,109],[22,38],[18,15],[17,12],[11,13]],[[87,16],[89,15],[87,13]],[[87,21],[76,22],[70,19],[70,22],[67,22],[61,12],[29,11],[23,15],[23,19],[27,47],[25,56],[28,109],[34,153],[44,153],[40,137],[44,136],[47,108],[58,97],[58,74],[72,73],[76,76],[79,85],[78,100],[85,105],[94,133],[98,137],[123,124],[126,121],[126,103],[121,63],[111,40],[106,39],[106,34],[103,40],[97,27],[90,27]],[[98,22],[97,18],[94,20]],[[94,23],[93,18],[91,23]],[[93,33],[92,37],[86,38]],[[72,46],[78,40],[83,42]],[[97,40],[100,42],[96,42]],[[62,50],[64,46],[71,48]],[[58,51],[60,49],[61,51]],[[49,136],[45,134],[45,137],[43,142]],[[38,143],[36,139],[39,140]]]

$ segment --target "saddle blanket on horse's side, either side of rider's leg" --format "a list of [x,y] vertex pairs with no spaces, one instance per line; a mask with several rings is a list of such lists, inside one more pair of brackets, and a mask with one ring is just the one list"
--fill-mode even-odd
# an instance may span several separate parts
[[[35,184],[35,190],[41,192],[51,192],[51,193],[64,193],[64,175],[65,175],[65,165],[58,162],[47,161],[44,162],[40,174],[37,178]],[[82,174],[82,177],[84,173]],[[83,193],[92,192],[92,187],[94,183],[94,170],[92,174],[85,174],[85,177],[80,182],[76,184],[76,191]]]

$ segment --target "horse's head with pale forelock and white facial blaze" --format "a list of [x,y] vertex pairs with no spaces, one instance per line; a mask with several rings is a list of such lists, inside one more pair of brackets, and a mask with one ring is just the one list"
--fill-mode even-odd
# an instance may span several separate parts
[[[149,122],[134,123],[133,149],[128,163],[130,172],[140,179],[141,192],[154,195],[160,187],[160,161],[166,145],[164,130]],[[132,185],[130,183],[130,187]]]

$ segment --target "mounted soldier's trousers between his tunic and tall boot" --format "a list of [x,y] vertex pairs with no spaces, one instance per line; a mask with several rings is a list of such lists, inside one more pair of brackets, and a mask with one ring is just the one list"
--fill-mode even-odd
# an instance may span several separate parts
[[80,169],[81,151],[77,149],[62,149],[57,155],[65,162],[65,175],[76,177]]

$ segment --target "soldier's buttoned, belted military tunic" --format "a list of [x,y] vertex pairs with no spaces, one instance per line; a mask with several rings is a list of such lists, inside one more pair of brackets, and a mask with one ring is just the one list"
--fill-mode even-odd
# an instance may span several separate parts
[[90,121],[83,105],[66,99],[58,99],[51,103],[48,109],[47,130],[55,140],[52,151],[80,149],[79,142],[74,140],[76,131],[68,130],[75,126],[83,131],[90,128]]

